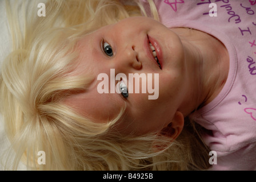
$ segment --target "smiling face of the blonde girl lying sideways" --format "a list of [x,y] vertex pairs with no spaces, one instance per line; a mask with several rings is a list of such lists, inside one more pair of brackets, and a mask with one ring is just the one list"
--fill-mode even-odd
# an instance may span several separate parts
[[[186,89],[184,50],[173,31],[151,18],[127,18],[86,35],[79,42],[79,51],[79,64],[74,74],[86,76],[90,71],[94,81],[85,93],[67,98],[66,104],[95,122],[110,121],[126,105],[123,119],[117,123],[117,129],[126,133],[158,132],[172,121]],[[111,88],[110,69],[115,76],[118,73],[126,75],[127,82],[114,80],[114,85],[121,87],[119,93],[99,93],[98,85],[103,79],[97,78],[102,73],[108,76],[105,82],[109,81],[109,90]],[[153,94],[148,89],[146,93],[142,90],[135,93],[131,89],[129,74],[135,73],[145,73],[146,82],[153,86],[158,82],[154,93],[157,99],[149,100],[149,95]],[[142,87],[142,79],[139,85]]]

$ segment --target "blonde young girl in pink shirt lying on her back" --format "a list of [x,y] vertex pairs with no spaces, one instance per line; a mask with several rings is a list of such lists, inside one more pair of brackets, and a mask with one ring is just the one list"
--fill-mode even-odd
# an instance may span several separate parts
[[[200,3],[190,3],[202,10]],[[15,152],[12,162],[13,152],[6,159],[7,169],[20,161],[27,169],[255,169],[253,92],[245,89],[246,103],[238,102],[235,113],[230,110],[234,97],[240,98],[235,89],[241,83],[254,86],[253,77],[242,81],[246,68],[237,70],[233,35],[231,40],[223,36],[230,26],[211,29],[214,24],[207,27],[207,21],[222,26],[221,20],[196,11],[183,17],[191,7],[183,1],[135,5],[49,1],[45,17],[25,15],[35,20],[23,32],[15,11],[7,9],[13,52],[2,64],[0,97]],[[170,15],[173,22],[166,18]],[[198,16],[202,23],[194,22]],[[245,59],[253,64],[252,55]],[[119,92],[99,93],[98,76],[104,73],[111,82],[111,69],[115,76],[158,75],[151,80],[158,82],[158,98],[132,92],[132,80],[122,78],[114,80]],[[213,166],[208,147],[217,151]]]

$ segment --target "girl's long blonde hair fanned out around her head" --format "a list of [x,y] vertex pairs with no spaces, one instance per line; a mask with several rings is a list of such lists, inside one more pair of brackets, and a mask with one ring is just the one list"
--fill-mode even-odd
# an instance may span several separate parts
[[[153,1],[149,1],[154,10]],[[32,3],[30,1],[30,3]],[[37,7],[37,2],[33,1]],[[63,105],[61,99],[86,92],[91,77],[71,76],[77,64],[77,42],[97,28],[130,16],[145,15],[134,1],[56,0],[46,3],[46,17],[37,11],[11,11],[6,1],[13,51],[6,57],[0,76],[0,110],[11,142],[6,169],[39,170],[189,170],[206,169],[208,151],[187,121],[177,140],[165,135],[141,137],[115,133],[122,119],[96,123]],[[136,5],[136,6],[135,6]],[[35,8],[35,10],[37,10]],[[156,11],[152,11],[158,19]],[[22,24],[19,24],[19,21]],[[23,27],[23,28],[22,28]],[[157,146],[157,147],[155,147]],[[38,164],[44,151],[45,164]],[[11,155],[15,158],[11,160]],[[10,162],[11,160],[11,162]],[[8,165],[10,164],[11,165]]]

